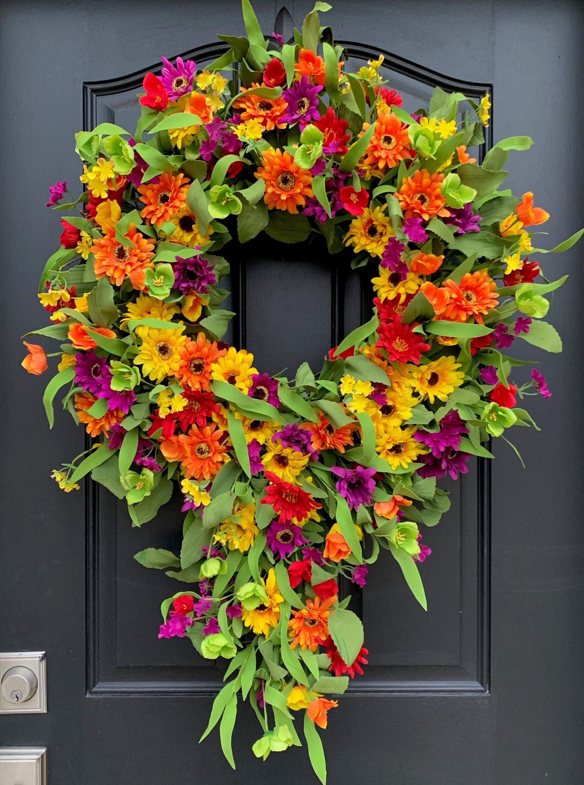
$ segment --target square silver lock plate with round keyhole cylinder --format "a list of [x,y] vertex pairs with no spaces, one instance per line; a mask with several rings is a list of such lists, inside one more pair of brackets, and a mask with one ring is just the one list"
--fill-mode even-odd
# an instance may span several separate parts
[[0,653],[0,714],[45,712],[45,652]]

